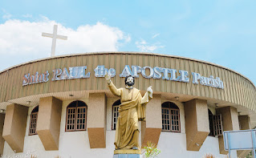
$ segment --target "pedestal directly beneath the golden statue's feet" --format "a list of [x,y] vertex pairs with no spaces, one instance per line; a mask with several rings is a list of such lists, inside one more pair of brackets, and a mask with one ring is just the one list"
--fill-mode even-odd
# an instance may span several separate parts
[[115,150],[113,158],[140,158],[140,150]]

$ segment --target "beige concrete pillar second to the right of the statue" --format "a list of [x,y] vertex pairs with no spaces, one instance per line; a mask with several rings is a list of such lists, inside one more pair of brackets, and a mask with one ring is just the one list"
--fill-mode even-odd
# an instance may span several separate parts
[[185,103],[185,132],[188,151],[199,151],[209,135],[207,101],[193,99]]

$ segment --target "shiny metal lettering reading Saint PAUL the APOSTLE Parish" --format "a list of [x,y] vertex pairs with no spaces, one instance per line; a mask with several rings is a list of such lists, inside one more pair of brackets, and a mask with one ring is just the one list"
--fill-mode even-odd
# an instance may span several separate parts
[[[109,74],[111,77],[116,76],[116,70],[114,68],[105,68],[104,65],[99,65],[94,70],[94,75],[96,78],[104,77],[104,75]],[[26,86],[34,83],[46,83],[49,80],[49,72],[46,71],[43,74],[36,72],[35,75],[30,75],[30,73],[23,76],[22,86]],[[63,79],[87,79],[90,78],[91,72],[87,72],[87,66],[83,67],[64,67],[63,69],[57,68],[52,70],[51,81],[58,81]],[[132,67],[125,65],[120,77],[126,77],[127,75],[132,75],[135,78],[139,78],[142,75],[146,79],[164,79],[169,81],[189,83],[189,71],[183,71],[165,67]],[[209,87],[217,87],[224,89],[224,84],[220,78],[216,77],[214,79],[213,75],[205,77],[196,72],[191,72],[192,83],[201,84]]]

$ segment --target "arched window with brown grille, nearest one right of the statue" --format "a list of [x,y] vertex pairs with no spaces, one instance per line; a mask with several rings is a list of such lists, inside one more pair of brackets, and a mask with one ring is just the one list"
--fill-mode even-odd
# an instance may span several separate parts
[[180,109],[175,103],[162,103],[162,131],[181,132]]

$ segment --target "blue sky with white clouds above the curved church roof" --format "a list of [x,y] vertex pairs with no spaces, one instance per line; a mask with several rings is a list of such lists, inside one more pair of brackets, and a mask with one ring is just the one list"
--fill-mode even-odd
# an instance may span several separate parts
[[51,33],[58,23],[59,34],[69,39],[57,41],[56,55],[87,51],[180,55],[229,67],[255,84],[255,6],[254,0],[0,0],[0,71],[49,56],[51,39],[41,32]]

